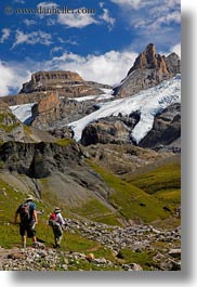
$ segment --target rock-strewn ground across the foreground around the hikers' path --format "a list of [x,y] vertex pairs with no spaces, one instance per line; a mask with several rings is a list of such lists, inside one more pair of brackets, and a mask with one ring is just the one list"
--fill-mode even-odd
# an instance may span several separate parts
[[[143,271],[137,262],[127,262],[123,249],[135,253],[153,252],[153,271],[181,270],[181,227],[156,230],[152,225],[109,226],[87,220],[67,220],[67,232],[98,242],[114,253],[114,260],[90,253],[62,251],[43,244],[21,249],[0,248],[0,270],[4,271]],[[66,239],[66,238],[65,238]]]

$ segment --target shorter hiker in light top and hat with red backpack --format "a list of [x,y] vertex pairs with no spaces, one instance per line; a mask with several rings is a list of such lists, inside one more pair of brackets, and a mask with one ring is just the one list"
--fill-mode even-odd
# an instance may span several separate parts
[[61,214],[61,209],[55,207],[53,213],[50,216],[49,225],[53,229],[55,248],[61,248],[61,242],[63,238],[63,230],[64,230],[65,220]]

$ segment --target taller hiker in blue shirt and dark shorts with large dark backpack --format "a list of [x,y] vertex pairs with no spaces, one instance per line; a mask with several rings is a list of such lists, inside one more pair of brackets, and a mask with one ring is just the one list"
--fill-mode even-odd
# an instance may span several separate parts
[[17,224],[17,216],[19,214],[19,234],[22,236],[22,247],[26,248],[26,234],[28,238],[32,238],[32,245],[36,246],[37,237],[35,225],[38,224],[36,205],[31,195],[19,205],[15,212],[14,223]]

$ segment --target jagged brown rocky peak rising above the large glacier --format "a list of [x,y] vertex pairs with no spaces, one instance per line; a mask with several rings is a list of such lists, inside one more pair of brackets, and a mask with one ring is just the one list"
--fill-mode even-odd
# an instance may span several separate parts
[[175,53],[167,57],[159,55],[155,45],[149,43],[136,57],[120,86],[114,89],[114,94],[120,97],[129,96],[155,87],[180,73],[180,57]]

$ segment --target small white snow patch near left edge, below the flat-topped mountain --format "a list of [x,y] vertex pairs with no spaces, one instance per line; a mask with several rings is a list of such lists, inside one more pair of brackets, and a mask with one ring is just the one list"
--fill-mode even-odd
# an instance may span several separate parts
[[31,118],[31,107],[36,103],[29,103],[24,105],[16,105],[16,106],[10,106],[12,113],[18,118],[22,122],[26,122],[29,118]]

